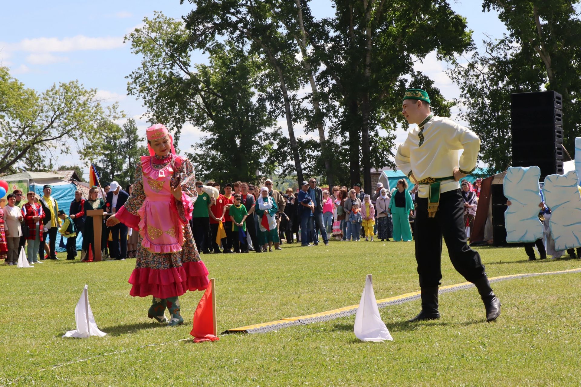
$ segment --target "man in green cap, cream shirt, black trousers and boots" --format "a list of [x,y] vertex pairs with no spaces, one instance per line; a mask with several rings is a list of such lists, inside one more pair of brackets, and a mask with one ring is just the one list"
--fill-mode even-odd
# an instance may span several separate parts
[[480,139],[450,118],[433,115],[428,93],[420,89],[406,91],[401,113],[410,124],[418,125],[408,132],[396,154],[397,167],[418,183],[414,236],[422,310],[410,321],[440,318],[442,237],[454,268],[476,285],[486,321],[492,321],[500,315],[500,301],[490,288],[480,255],[466,243],[464,200],[458,183],[474,171]]

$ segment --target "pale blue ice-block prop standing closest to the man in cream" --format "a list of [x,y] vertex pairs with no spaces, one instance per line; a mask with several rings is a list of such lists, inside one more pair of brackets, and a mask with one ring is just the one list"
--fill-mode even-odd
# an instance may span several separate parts
[[504,212],[507,242],[534,242],[543,237],[543,223],[539,220],[542,201],[539,178],[541,169],[509,167],[504,176],[504,196],[512,202]]

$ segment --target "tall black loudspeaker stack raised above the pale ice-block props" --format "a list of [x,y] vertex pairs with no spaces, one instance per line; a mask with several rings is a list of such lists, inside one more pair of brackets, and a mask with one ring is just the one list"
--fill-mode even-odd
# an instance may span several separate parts
[[511,94],[512,167],[537,165],[540,181],[562,175],[562,117],[562,96],[557,92]]

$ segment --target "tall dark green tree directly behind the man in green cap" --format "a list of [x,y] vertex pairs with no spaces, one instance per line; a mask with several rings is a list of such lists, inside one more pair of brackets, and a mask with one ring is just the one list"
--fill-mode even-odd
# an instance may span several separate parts
[[[445,0],[335,0],[335,17],[313,23],[309,32],[313,56],[325,64],[319,79],[328,90],[328,104],[336,117],[332,128],[348,134],[350,182],[371,187],[371,168],[381,168],[393,157],[393,136],[380,138],[378,128],[393,132],[404,124],[401,96],[411,86],[431,88],[433,107],[446,114],[433,82],[414,73],[413,63],[436,51],[438,59],[451,59],[471,46],[466,21]],[[411,78],[411,82],[410,79]],[[371,152],[371,149],[374,152]],[[382,152],[382,157],[374,154]],[[378,164],[375,164],[375,160]],[[363,164],[363,165],[361,165]],[[362,168],[363,167],[363,168]]]

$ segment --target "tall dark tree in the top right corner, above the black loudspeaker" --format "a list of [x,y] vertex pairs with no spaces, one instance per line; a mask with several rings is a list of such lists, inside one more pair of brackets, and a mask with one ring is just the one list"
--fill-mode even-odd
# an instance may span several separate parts
[[[532,52],[533,62],[544,67],[544,89],[563,96],[564,145],[575,149],[581,135],[581,1],[579,0],[485,0],[483,10],[498,11],[509,35],[507,39],[521,48],[519,54]],[[519,77],[513,68],[509,77]],[[526,71],[529,73],[529,71]],[[522,79],[522,78],[521,78]]]

